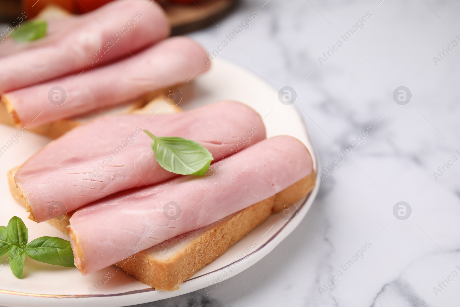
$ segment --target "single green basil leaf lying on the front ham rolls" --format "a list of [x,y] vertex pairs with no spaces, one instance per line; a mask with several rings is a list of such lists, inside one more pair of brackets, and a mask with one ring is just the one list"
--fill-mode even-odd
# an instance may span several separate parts
[[181,175],[204,175],[213,161],[213,155],[199,143],[178,137],[150,136],[155,160],[167,171]]

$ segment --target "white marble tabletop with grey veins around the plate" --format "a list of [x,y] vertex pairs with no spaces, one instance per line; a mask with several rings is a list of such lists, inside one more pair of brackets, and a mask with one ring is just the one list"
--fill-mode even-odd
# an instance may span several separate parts
[[[270,255],[209,295],[145,306],[459,306],[460,276],[438,282],[460,273],[460,162],[438,180],[433,172],[460,158],[460,46],[438,65],[433,57],[460,43],[460,2],[265,1],[243,0],[190,36],[212,50],[256,12],[218,56],[296,90],[322,165],[343,156],[366,127],[372,133],[324,178],[301,226]],[[344,42],[340,35],[366,12],[364,28]],[[321,65],[318,57],[338,40],[344,45]],[[412,92],[407,105],[393,101],[399,86]],[[412,208],[407,220],[393,215],[399,201]],[[364,258],[345,272],[341,265],[367,242]]]

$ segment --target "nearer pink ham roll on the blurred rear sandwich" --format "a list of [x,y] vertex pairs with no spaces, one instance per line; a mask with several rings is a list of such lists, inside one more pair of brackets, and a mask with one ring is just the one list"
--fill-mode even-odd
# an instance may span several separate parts
[[[115,64],[6,93],[3,100],[18,124],[33,127],[187,82],[208,70],[206,57],[196,42],[174,37]],[[63,104],[50,102],[49,92],[55,86],[66,92]]]

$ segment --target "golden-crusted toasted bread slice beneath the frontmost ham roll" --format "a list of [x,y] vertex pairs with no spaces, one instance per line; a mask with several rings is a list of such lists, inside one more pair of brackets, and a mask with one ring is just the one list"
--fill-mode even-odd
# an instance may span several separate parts
[[177,290],[180,284],[223,255],[270,214],[285,209],[275,209],[274,204],[294,199],[297,201],[310,193],[314,185],[315,174],[312,172],[275,197],[255,203],[209,226],[145,249],[116,266],[156,290]]

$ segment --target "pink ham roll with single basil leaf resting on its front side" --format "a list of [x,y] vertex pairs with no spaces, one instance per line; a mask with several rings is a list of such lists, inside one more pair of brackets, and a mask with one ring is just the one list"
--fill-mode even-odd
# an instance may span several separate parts
[[35,220],[54,218],[63,205],[69,212],[177,176],[155,161],[152,140],[141,129],[196,140],[215,161],[265,139],[259,114],[232,101],[178,114],[100,118],[52,141],[18,169],[15,180]]

